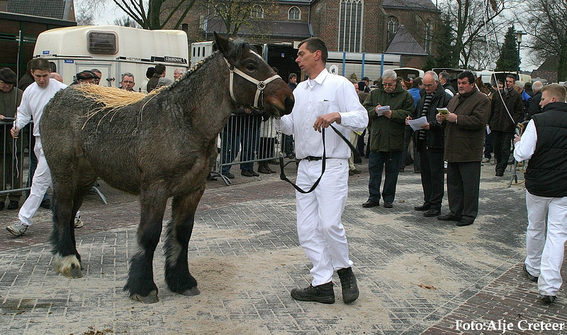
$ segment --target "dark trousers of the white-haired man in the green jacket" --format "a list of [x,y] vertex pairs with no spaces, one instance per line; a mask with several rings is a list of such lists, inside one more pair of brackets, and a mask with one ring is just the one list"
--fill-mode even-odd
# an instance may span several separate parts
[[[380,201],[380,185],[382,182],[382,170],[386,170],[382,198],[385,202],[393,202],[395,197],[395,185],[398,184],[398,172],[400,172],[401,151],[370,151],[368,160],[368,171],[370,180],[368,182],[369,200]],[[386,166],[386,169],[384,169]]]

